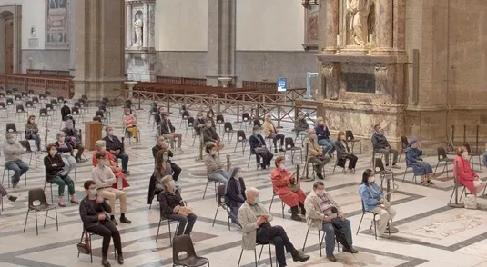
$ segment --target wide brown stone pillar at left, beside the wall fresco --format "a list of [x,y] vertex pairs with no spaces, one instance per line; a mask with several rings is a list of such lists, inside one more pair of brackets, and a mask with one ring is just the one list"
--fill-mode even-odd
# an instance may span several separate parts
[[76,0],[75,98],[90,101],[121,94],[124,78],[125,10],[120,0]]

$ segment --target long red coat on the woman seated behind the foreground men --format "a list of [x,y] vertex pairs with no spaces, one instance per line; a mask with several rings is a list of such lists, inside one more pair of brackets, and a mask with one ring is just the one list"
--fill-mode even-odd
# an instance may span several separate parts
[[294,193],[289,189],[288,183],[290,182],[291,177],[292,173],[289,173],[288,170],[281,170],[279,168],[274,168],[272,173],[270,173],[274,192],[279,195],[279,198],[283,203],[286,203],[289,207],[294,207],[299,203],[304,203],[306,194],[304,194],[301,189],[299,189],[297,193]]

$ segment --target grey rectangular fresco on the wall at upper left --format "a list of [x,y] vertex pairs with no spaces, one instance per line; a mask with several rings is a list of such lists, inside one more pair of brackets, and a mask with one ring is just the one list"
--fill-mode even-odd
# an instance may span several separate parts
[[68,48],[67,0],[46,0],[46,48]]

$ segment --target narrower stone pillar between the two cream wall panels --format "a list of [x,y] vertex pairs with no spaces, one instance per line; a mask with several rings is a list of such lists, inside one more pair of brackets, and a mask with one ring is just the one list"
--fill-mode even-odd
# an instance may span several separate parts
[[236,7],[237,0],[208,0],[208,85],[220,84],[218,77],[232,78],[230,86],[236,84]]

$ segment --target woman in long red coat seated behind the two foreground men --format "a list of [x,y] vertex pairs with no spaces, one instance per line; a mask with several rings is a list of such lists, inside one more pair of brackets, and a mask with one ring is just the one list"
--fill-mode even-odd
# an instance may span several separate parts
[[293,192],[289,188],[289,183],[299,183],[296,177],[292,176],[286,170],[284,165],[284,156],[279,156],[274,164],[276,168],[270,173],[270,180],[272,181],[272,187],[274,188],[274,193],[279,195],[280,200],[286,203],[291,208],[291,219],[294,221],[301,222],[302,219],[298,215],[298,205],[301,208],[301,214],[306,215],[306,210],[304,209],[304,200],[306,199],[306,194],[302,189]]

